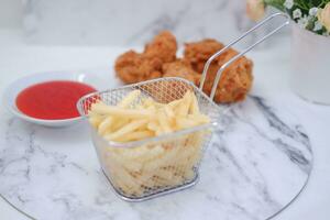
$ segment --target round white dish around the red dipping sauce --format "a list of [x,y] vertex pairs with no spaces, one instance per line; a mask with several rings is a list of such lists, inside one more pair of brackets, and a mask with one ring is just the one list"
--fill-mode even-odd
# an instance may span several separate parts
[[13,81],[4,90],[3,101],[9,110],[16,117],[30,121],[32,123],[45,125],[45,127],[67,127],[72,125],[75,122],[81,120],[81,117],[65,119],[65,120],[43,120],[35,119],[22,113],[15,105],[16,96],[24,88],[32,86],[37,82],[50,81],[50,80],[74,80],[79,82],[85,82],[97,90],[108,89],[114,86],[118,86],[120,82],[114,78],[113,74],[110,70],[91,70],[91,72],[50,72],[29,75],[23,78],[20,78]]

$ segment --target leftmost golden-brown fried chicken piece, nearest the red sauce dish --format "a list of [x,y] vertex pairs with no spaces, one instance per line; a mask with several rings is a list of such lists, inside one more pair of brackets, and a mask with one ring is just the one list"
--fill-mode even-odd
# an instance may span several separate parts
[[142,54],[129,51],[117,58],[114,69],[125,84],[134,84],[162,77],[162,61],[145,58]]

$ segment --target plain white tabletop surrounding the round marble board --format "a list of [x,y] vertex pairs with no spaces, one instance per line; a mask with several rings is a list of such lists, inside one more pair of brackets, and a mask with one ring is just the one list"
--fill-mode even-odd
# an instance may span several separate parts
[[[3,35],[1,44],[4,41],[8,41],[6,35]],[[13,46],[10,47],[8,45]],[[9,40],[1,48],[1,91],[10,80],[35,72],[105,66],[105,64],[111,63],[120,51],[120,48],[96,47],[52,47],[47,50],[37,46],[24,46],[15,38]],[[285,47],[274,47],[272,53],[261,51],[250,55],[257,64],[255,67],[256,79],[253,94],[276,96],[277,100],[280,100],[282,97],[294,97],[287,84],[287,75],[289,73],[287,50]],[[273,62],[274,57],[277,58],[278,63]],[[292,207],[276,218],[328,219],[327,201],[329,201],[329,191],[327,191],[327,185],[329,184],[329,176],[327,176],[327,172],[329,170],[329,165],[327,165],[327,153],[329,155],[330,151],[327,148],[329,136],[327,136],[326,129],[330,122],[330,109],[312,106],[295,98],[292,100],[294,101],[285,105],[289,106],[290,110],[294,109],[295,117],[300,119],[299,122],[310,135],[311,145],[316,154],[315,169],[307,189]],[[292,108],[295,106],[299,108]],[[24,219],[23,216],[20,216],[4,202],[0,204],[0,211],[6,219]]]

